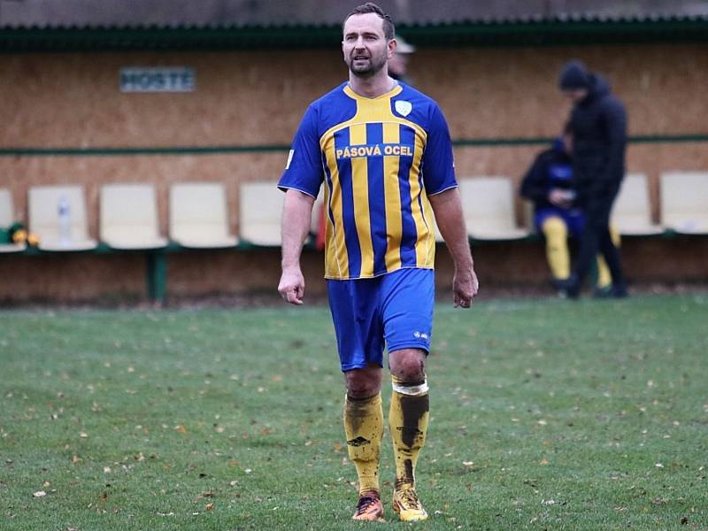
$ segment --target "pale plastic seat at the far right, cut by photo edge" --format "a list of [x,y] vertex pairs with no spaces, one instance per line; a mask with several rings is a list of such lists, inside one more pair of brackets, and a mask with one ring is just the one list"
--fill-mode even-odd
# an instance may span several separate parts
[[708,234],[708,173],[661,175],[661,221],[680,234]]

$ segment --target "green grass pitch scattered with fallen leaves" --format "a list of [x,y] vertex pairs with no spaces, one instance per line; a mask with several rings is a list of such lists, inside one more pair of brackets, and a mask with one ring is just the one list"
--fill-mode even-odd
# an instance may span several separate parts
[[[440,305],[414,527],[708,529],[706,317]],[[2,312],[0,368],[0,529],[362,528],[326,308]]]

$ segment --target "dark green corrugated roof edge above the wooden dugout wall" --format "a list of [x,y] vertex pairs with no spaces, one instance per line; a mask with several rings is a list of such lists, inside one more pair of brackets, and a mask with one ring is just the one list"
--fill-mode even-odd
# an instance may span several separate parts
[[[556,46],[708,42],[708,17],[548,19],[399,25],[420,46]],[[328,48],[339,25],[243,27],[4,27],[0,51],[293,50]]]

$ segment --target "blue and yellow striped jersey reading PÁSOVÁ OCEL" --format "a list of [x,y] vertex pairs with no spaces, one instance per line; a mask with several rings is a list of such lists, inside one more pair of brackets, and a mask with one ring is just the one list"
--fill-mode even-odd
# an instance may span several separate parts
[[278,186],[316,197],[324,181],[325,277],[432,269],[427,196],[455,188],[447,123],[435,101],[399,83],[358,96],[343,83],[310,105]]

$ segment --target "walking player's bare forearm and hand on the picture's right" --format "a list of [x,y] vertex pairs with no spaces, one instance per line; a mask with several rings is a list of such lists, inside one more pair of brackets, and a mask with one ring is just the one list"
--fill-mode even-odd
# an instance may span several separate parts
[[456,308],[458,306],[469,308],[480,284],[477,281],[477,274],[474,273],[474,262],[467,239],[465,216],[458,189],[446,189],[439,194],[429,196],[428,199],[435,213],[437,227],[443,235],[455,265],[455,275],[452,278],[452,303]]

